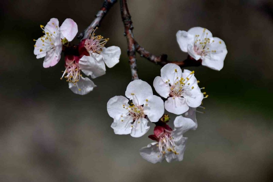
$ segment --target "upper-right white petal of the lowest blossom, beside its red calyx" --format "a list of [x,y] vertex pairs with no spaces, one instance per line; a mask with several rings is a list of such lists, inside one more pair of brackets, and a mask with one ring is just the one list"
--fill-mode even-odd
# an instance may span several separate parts
[[174,130],[172,132],[172,136],[178,140],[186,131],[192,130],[195,127],[196,124],[190,118],[177,116],[174,120]]

